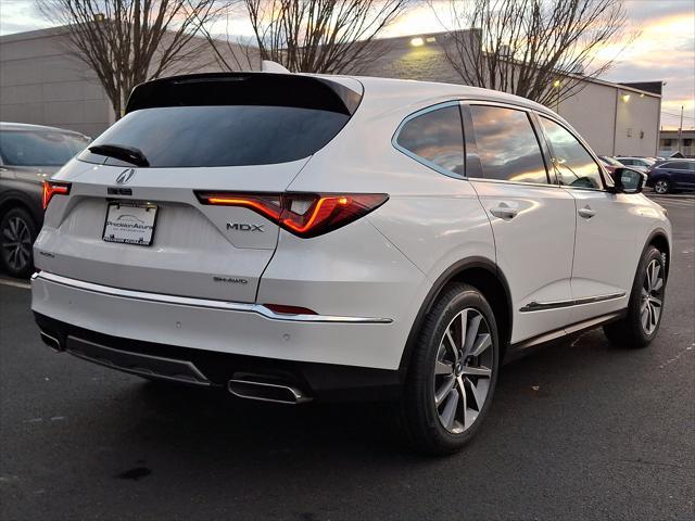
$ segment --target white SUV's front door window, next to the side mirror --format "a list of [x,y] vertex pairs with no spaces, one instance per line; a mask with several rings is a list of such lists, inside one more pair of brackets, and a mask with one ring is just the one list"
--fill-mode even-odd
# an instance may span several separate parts
[[601,168],[586,149],[565,127],[543,116],[540,119],[553,149],[559,183],[601,190]]

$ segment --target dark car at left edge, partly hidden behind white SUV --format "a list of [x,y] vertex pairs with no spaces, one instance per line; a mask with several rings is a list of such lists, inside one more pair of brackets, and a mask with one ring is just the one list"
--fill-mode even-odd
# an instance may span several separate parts
[[0,123],[0,269],[4,272],[31,275],[31,244],[43,224],[42,182],[88,142],[71,130]]

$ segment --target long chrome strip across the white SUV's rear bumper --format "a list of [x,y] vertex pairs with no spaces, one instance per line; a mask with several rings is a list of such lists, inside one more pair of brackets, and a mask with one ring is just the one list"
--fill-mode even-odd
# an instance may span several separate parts
[[161,293],[148,293],[144,291],[123,290],[112,288],[110,285],[94,284],[93,282],[85,282],[83,280],[71,279],[61,275],[41,271],[33,278],[43,279],[56,284],[75,288],[77,290],[91,291],[93,293],[102,293],[104,295],[119,296],[124,298],[136,298],[139,301],[159,302],[163,304],[175,304],[179,306],[206,307],[211,309],[222,309],[226,312],[255,313],[270,320],[283,320],[290,322],[339,322],[339,323],[391,323],[391,318],[372,318],[372,317],[340,317],[333,315],[286,315],[275,313],[262,304],[251,304],[244,302],[226,302],[214,301],[207,298],[194,298],[189,296],[166,295]]

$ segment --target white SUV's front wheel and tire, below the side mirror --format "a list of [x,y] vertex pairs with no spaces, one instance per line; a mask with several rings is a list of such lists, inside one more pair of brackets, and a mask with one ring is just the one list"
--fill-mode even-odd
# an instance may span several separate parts
[[640,260],[628,314],[621,320],[604,326],[611,343],[631,348],[646,347],[652,343],[661,326],[666,281],[664,255],[649,246]]

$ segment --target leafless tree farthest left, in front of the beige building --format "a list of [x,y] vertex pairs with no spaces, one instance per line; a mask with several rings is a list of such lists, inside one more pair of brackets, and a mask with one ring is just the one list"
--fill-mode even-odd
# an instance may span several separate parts
[[218,12],[216,0],[37,0],[68,27],[72,53],[97,75],[116,118],[132,88],[176,68],[187,71],[206,48],[197,38]]

